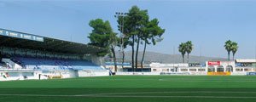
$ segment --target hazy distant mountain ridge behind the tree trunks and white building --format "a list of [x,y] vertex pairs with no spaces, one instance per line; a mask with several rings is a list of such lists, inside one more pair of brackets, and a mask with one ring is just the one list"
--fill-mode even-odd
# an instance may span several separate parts
[[[117,59],[119,60],[119,52],[117,54]],[[139,52],[138,60],[141,60],[143,52]],[[226,60],[224,58],[214,58],[214,57],[205,57],[205,56],[195,56],[189,55],[190,63],[205,63],[207,60]],[[131,62],[131,51],[125,52],[125,61]],[[151,62],[160,62],[160,63],[182,63],[183,59],[181,54],[160,54],[154,52],[146,52],[144,62],[149,64]],[[185,56],[185,62],[187,62],[187,55]]]

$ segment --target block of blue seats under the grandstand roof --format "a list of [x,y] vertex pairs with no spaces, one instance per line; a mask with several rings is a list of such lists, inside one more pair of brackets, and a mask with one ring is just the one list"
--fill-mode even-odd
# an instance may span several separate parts
[[39,59],[28,57],[12,58],[17,64],[32,70],[104,70],[99,65],[82,59]]

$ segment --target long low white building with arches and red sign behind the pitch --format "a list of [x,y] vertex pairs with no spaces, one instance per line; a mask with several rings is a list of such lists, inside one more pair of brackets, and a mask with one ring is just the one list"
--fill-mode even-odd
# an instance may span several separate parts
[[119,71],[117,75],[201,75],[201,76],[246,76],[256,75],[255,59],[232,61],[206,61],[199,63],[161,64],[151,63],[150,71]]

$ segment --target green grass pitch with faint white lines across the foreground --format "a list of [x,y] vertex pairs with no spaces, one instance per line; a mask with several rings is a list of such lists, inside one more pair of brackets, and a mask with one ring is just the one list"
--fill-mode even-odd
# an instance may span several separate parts
[[0,82],[0,101],[256,101],[256,77],[114,76]]

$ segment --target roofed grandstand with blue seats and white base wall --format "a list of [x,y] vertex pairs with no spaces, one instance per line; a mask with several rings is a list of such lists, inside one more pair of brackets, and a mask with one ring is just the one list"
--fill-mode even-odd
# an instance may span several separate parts
[[105,50],[78,42],[0,29],[0,81],[108,76]]

